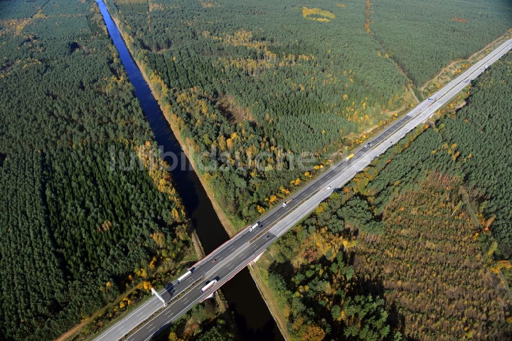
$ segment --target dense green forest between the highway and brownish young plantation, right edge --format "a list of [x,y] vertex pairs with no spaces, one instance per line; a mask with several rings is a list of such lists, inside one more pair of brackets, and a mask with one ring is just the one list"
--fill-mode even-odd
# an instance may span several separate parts
[[[511,66],[512,55],[508,53],[472,83],[465,106],[452,108],[434,129],[426,130],[404,148],[394,158],[394,167],[375,166],[365,172],[368,176],[361,175],[371,179],[367,186],[377,212],[386,208],[390,197],[408,189],[428,171],[457,177],[478,204],[482,226],[496,238],[499,258],[512,258],[512,194],[504,182],[512,175],[507,163],[512,157],[512,123],[508,117],[512,111]],[[395,184],[396,180],[400,183]],[[364,183],[366,180],[361,181]]]

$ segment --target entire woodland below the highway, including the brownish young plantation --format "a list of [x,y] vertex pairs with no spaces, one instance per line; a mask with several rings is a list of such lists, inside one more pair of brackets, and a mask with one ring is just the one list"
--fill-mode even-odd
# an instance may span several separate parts
[[[260,267],[293,339],[313,327],[316,339],[510,335],[511,67],[509,53],[462,108],[450,103],[271,247]],[[386,335],[352,325],[346,305],[369,295],[386,315],[368,330]]]

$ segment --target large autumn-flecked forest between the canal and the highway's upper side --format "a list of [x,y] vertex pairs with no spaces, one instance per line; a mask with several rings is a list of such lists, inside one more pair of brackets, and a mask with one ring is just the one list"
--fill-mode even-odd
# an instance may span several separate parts
[[[411,52],[440,10],[417,18],[414,29],[387,19],[386,25],[409,33],[397,34],[408,36],[397,42],[401,51],[433,57],[421,59],[426,66],[413,78],[394,42],[380,38],[380,26],[374,29],[377,14],[386,12],[370,2],[315,5],[321,8],[291,0],[107,4],[198,172],[239,227],[321,171],[333,153],[345,153],[416,103],[411,85],[433,77],[450,58],[481,49],[506,31],[509,19],[497,0],[488,6],[492,14],[472,18],[473,24],[447,18],[449,24],[437,28],[459,25],[458,35],[450,35],[457,41],[453,56]],[[446,6],[452,10],[457,1]],[[486,30],[478,39],[466,34],[481,27]],[[445,43],[440,39],[429,44]],[[464,47],[466,41],[472,44]],[[303,153],[311,159],[305,166],[288,157]]]

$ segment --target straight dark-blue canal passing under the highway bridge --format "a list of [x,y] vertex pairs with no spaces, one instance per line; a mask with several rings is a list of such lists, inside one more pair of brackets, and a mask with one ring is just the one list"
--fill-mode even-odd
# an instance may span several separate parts
[[[130,81],[135,88],[135,96],[140,101],[142,111],[150,123],[156,141],[163,147],[164,153],[178,155],[178,165],[172,171],[174,181],[185,207],[203,244],[204,251],[209,253],[224,243],[229,236],[222,226],[199,178],[188,159],[181,151],[180,144],[163,116],[157,101],[145,82],[137,64],[126,48],[124,40],[117,29],[110,13],[101,0],[96,0],[106,28],[119,52],[119,56]],[[176,159],[168,158],[169,164]],[[222,287],[237,326],[245,340],[282,340],[258,288],[251,278],[249,270],[244,269]]]

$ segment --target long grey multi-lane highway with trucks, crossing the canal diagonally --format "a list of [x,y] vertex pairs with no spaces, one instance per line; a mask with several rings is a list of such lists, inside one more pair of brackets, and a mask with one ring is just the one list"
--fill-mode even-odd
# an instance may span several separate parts
[[[257,228],[250,231],[247,227],[220,245],[196,263],[191,268],[193,269],[191,275],[182,282],[174,281],[168,287],[161,289],[159,293],[166,302],[165,307],[156,296],[152,296],[120,321],[104,330],[94,340],[111,341],[123,337],[127,340],[151,339],[191,307],[219,289],[222,284],[263,253],[268,245],[306,217],[319,203],[329,197],[333,190],[346,184],[374,158],[384,153],[416,126],[423,124],[471,80],[480,75],[486,66],[490,66],[510,49],[512,49],[512,39],[507,40],[447,83],[429,99],[416,105],[409,113],[392,122],[364,145],[356,148],[350,160],[333,164],[315,180],[288,198],[287,200],[293,199],[289,204],[274,207],[260,219]],[[201,288],[214,279],[218,282],[202,293]]]

